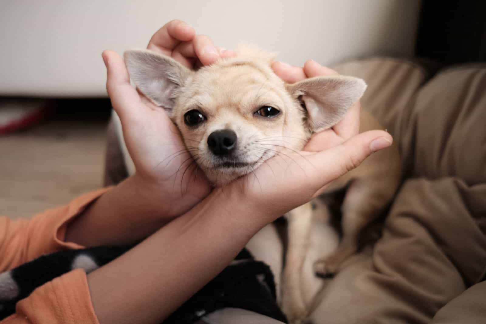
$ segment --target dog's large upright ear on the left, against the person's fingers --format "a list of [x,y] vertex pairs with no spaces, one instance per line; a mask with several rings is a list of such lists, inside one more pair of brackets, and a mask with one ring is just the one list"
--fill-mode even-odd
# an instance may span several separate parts
[[178,89],[193,72],[173,58],[146,49],[127,50],[123,57],[140,92],[170,112]]

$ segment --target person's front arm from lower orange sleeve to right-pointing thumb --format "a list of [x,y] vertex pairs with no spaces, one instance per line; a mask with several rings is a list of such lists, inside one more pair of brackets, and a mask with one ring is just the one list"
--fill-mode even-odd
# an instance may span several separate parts
[[[78,323],[81,318],[94,324],[160,323],[223,270],[262,227],[357,166],[377,149],[372,143],[382,135],[386,146],[391,138],[383,133],[366,132],[318,153],[295,153],[284,162],[268,160],[268,168],[253,175],[263,186],[247,176],[214,190],[191,211],[91,272],[87,284],[77,270],[41,286],[19,302],[5,323]],[[320,167],[306,172],[301,163]]]

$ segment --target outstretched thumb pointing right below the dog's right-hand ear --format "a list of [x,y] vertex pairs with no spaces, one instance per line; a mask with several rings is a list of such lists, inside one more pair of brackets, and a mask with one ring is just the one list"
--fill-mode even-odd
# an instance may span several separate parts
[[[316,166],[318,188],[358,167],[373,152],[391,146],[392,136],[383,130],[369,130],[349,138],[343,144],[308,156]],[[319,190],[314,196],[321,192]]]

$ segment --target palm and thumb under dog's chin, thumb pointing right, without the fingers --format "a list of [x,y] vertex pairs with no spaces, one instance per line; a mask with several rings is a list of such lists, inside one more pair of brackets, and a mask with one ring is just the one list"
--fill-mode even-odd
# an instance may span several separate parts
[[373,152],[391,146],[393,141],[383,130],[366,131],[335,146],[322,139],[311,139],[306,147],[312,150],[279,152],[254,172],[221,188],[222,200],[231,200],[233,213],[248,215],[247,221],[258,230],[309,202],[332,180],[356,168]]

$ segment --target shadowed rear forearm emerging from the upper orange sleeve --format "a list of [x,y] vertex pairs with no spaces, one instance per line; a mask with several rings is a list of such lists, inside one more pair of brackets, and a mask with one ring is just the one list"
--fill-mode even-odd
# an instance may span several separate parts
[[165,216],[165,204],[156,188],[132,176],[78,215],[68,225],[65,241],[84,246],[138,242],[172,219]]

